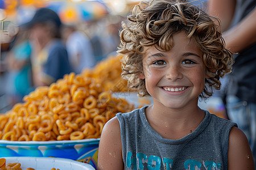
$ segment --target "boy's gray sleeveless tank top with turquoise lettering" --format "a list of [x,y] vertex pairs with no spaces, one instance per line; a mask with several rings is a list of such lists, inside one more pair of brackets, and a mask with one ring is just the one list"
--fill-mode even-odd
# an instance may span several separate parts
[[172,140],[152,129],[145,108],[117,114],[125,169],[228,169],[229,131],[235,123],[205,111],[195,131]]

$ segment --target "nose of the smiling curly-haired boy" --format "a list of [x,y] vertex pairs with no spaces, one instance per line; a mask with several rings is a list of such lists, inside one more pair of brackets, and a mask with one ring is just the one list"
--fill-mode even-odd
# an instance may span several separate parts
[[183,78],[181,67],[177,65],[170,65],[166,70],[166,78],[176,81]]

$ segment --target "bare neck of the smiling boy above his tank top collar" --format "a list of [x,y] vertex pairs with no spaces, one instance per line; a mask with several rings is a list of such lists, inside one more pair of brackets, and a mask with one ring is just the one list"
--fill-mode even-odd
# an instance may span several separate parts
[[152,128],[162,137],[180,139],[199,126],[205,113],[197,107],[197,104],[178,109],[156,104],[146,109],[146,116]]

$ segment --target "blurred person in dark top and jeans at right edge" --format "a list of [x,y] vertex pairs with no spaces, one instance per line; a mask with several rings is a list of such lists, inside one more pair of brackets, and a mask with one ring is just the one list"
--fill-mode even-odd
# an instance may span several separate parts
[[256,1],[209,0],[208,5],[234,53],[232,73],[225,77],[227,114],[246,134],[256,165]]

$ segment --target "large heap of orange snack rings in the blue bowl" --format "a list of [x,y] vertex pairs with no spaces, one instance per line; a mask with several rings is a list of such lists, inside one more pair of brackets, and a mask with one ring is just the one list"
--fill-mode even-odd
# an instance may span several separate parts
[[134,105],[114,97],[126,89],[120,57],[109,57],[92,70],[68,74],[50,86],[37,87],[24,103],[0,114],[0,139],[61,141],[100,138],[105,123]]

